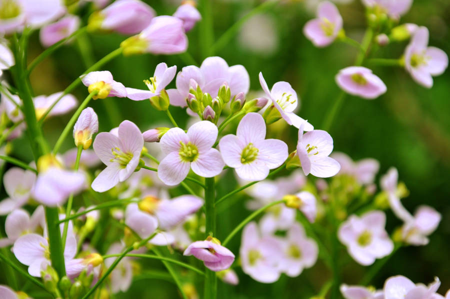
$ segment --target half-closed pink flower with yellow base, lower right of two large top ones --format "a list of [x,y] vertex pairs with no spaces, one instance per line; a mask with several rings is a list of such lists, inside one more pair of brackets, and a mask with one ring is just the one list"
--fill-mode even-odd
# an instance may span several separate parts
[[183,21],[169,15],[153,17],[142,32],[122,41],[120,47],[125,55],[182,53],[187,49]]

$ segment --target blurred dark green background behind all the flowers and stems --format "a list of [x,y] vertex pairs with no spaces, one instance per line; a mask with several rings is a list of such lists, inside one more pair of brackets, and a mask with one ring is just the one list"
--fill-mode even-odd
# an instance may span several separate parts
[[[170,1],[147,2],[158,14],[172,14],[176,9],[176,3]],[[215,38],[259,3],[250,0],[212,2]],[[320,128],[326,112],[340,91],[334,82],[334,76],[339,69],[353,63],[356,49],[338,42],[326,48],[314,47],[302,34],[304,23],[314,14],[305,7],[305,3],[301,1],[284,0],[265,13],[271,19],[271,23],[266,25],[275,36],[274,41],[272,40],[272,52],[252,51],[248,45],[242,44],[243,37],[236,36],[214,54],[223,57],[229,65],[243,64],[250,75],[250,90],[260,90],[257,77],[259,71],[263,72],[269,86],[280,80],[290,82],[301,97],[298,114]],[[338,8],[347,35],[361,40],[365,30],[365,14],[360,1],[338,4]],[[448,0],[414,0],[412,8],[401,21],[428,27],[429,44],[448,54],[449,15]],[[264,26],[253,26],[253,31],[246,34],[266,38],[267,30]],[[199,64],[204,57],[201,56],[202,37],[198,24],[187,35],[188,51]],[[115,49],[124,38],[125,36],[118,34],[89,34],[81,43],[75,41],[73,46],[58,49],[33,71],[31,82],[35,93],[50,94],[64,89],[86,69],[89,59],[98,60]],[[377,51],[374,57],[398,58],[405,46],[406,42],[391,43]],[[38,34],[34,33],[30,41],[30,59],[41,51]],[[146,54],[120,56],[102,69],[110,70],[114,79],[125,86],[144,88],[142,80],[153,74],[154,67],[159,62],[176,64],[178,70],[186,65],[178,55]],[[403,200],[405,206],[414,211],[418,205],[427,204],[442,213],[442,221],[437,231],[430,236],[429,245],[410,246],[397,251],[378,272],[372,284],[380,288],[385,278],[396,274],[406,275],[415,282],[426,283],[433,276],[438,276],[442,280],[440,292],[443,293],[450,288],[450,71],[435,77],[434,86],[428,90],[413,82],[402,68],[372,69],[387,85],[387,92],[375,100],[352,96],[345,98],[329,131],[334,139],[334,150],[343,151],[353,159],[376,158],[380,161],[380,174],[390,166],[397,167],[400,180],[410,190],[409,197]],[[169,86],[174,86],[174,81]],[[81,100],[87,95],[87,90],[80,86],[73,93]],[[168,122],[165,114],[153,109],[147,101],[106,98],[91,101],[90,106],[98,113],[100,131],[117,126],[123,119],[135,122],[142,131],[156,123]],[[187,115],[182,109],[171,109],[177,121],[183,124],[187,121]],[[46,121],[44,135],[50,145],[54,144],[69,117],[70,115],[65,115]],[[277,127],[276,124],[275,126]],[[289,149],[294,149],[297,132],[293,127],[283,127],[281,130],[277,127],[277,130],[269,134],[285,140]],[[25,137],[15,140],[13,145],[14,156],[24,160],[31,157]],[[67,138],[61,151],[72,146],[72,140]],[[228,179],[233,181],[232,175],[222,178],[222,185],[228,183]],[[379,175],[377,181],[378,179]],[[226,189],[223,193],[225,192]],[[219,214],[219,238],[226,236],[249,213],[243,203],[234,204],[230,208],[232,211]],[[387,231],[392,231],[399,222],[390,211],[387,214]],[[238,245],[239,237],[230,243],[230,249],[236,253]],[[163,269],[157,261],[144,261],[143,264],[149,268]],[[357,283],[365,271],[364,267],[349,257],[342,260],[342,266],[342,281],[348,284]],[[240,268],[236,270],[239,285],[232,287],[219,282],[219,298],[308,298],[315,295],[330,277],[321,261],[304,270],[299,277],[288,278],[283,275],[274,284],[258,283],[243,274]],[[174,284],[170,282],[143,279],[135,281],[126,294],[116,295],[116,298],[176,298],[176,292]]]

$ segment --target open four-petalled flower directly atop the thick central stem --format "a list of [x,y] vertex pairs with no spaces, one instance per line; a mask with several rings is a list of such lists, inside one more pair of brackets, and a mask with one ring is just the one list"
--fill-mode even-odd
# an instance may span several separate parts
[[158,177],[167,185],[180,183],[192,168],[196,174],[212,177],[222,171],[220,152],[212,148],[217,127],[210,121],[194,123],[185,133],[179,127],[169,129],[159,141],[166,156],[158,165]]

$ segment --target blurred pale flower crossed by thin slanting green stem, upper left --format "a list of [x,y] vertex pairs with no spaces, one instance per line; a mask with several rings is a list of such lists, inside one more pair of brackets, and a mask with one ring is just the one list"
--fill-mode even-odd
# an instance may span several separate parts
[[[34,109],[36,110],[36,118],[40,119],[47,109],[61,96],[62,91],[46,95],[38,95],[33,98]],[[48,116],[62,115],[77,106],[76,98],[71,94],[65,94],[54,105]]]

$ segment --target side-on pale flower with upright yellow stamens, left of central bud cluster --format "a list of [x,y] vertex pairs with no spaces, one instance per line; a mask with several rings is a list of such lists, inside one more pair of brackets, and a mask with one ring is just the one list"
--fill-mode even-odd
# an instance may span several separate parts
[[143,100],[160,95],[161,91],[172,81],[175,73],[176,65],[167,67],[167,64],[161,62],[156,65],[154,74],[150,80],[144,80],[148,90],[126,87],[126,96],[132,100]]

